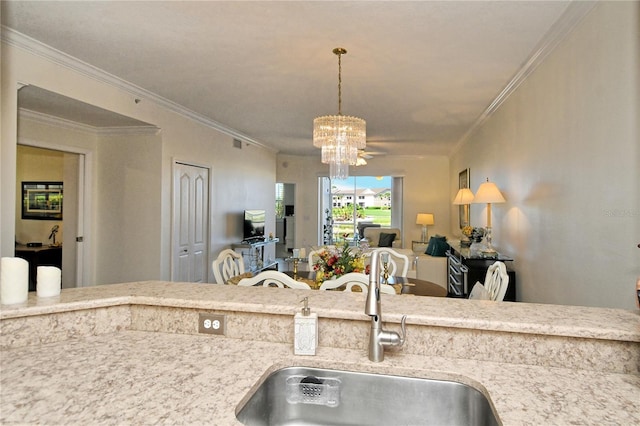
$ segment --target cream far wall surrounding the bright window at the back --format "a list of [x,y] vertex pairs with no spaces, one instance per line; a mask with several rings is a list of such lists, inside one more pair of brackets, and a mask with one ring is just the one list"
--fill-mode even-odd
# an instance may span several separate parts
[[[311,144],[312,141],[309,141]],[[429,235],[450,235],[449,159],[445,156],[397,157],[386,155],[367,160],[361,167],[350,167],[352,176],[404,177],[403,245],[420,240],[422,226],[416,225],[418,213],[433,213],[435,225]],[[278,155],[278,182],[296,183],[296,247],[318,244],[318,177],[329,168],[320,156]],[[457,219],[456,219],[457,220]]]

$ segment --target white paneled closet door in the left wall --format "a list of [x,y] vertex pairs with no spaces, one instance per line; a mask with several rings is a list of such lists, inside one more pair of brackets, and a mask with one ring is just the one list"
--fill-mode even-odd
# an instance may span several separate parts
[[207,282],[209,169],[176,162],[173,171],[171,279]]

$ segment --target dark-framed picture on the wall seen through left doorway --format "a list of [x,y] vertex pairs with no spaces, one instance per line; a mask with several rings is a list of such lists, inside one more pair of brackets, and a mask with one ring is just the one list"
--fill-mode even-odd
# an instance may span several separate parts
[[22,182],[22,219],[62,220],[62,182]]

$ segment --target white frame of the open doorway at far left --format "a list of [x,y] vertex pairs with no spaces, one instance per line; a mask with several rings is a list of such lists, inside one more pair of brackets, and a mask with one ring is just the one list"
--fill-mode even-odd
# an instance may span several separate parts
[[37,141],[23,137],[18,137],[17,144],[80,155],[81,158],[78,165],[78,228],[75,230],[75,234],[76,238],[82,237],[82,241],[76,240],[76,287],[90,286],[94,281],[92,275],[93,264],[91,262],[91,259],[93,259],[93,191],[91,191],[93,187],[93,151],[76,146]]

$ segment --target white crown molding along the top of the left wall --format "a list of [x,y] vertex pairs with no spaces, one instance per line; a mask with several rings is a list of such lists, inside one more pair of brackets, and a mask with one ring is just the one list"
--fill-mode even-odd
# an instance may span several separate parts
[[[87,76],[93,80],[101,83],[108,84],[119,90],[132,94],[136,98],[146,99],[160,105],[163,108],[168,109],[183,117],[187,117],[199,124],[217,130],[235,139],[240,139],[245,143],[259,146],[269,151],[276,151],[274,148],[265,145],[264,143],[251,138],[245,134],[238,132],[230,127],[227,127],[215,120],[205,117],[195,111],[183,107],[182,105],[156,95],[142,87],[129,83],[126,80],[121,79],[113,74],[110,74],[98,67],[95,67],[87,62],[81,61],[67,53],[64,53],[58,49],[55,49],[41,41],[38,41],[32,37],[22,34],[10,27],[2,25],[0,27],[0,40],[7,43],[10,46],[15,46],[22,50],[25,50],[33,55],[44,58],[57,65],[70,69],[74,72]],[[76,123],[77,124],[77,123]],[[91,126],[90,126],[91,127]]]

